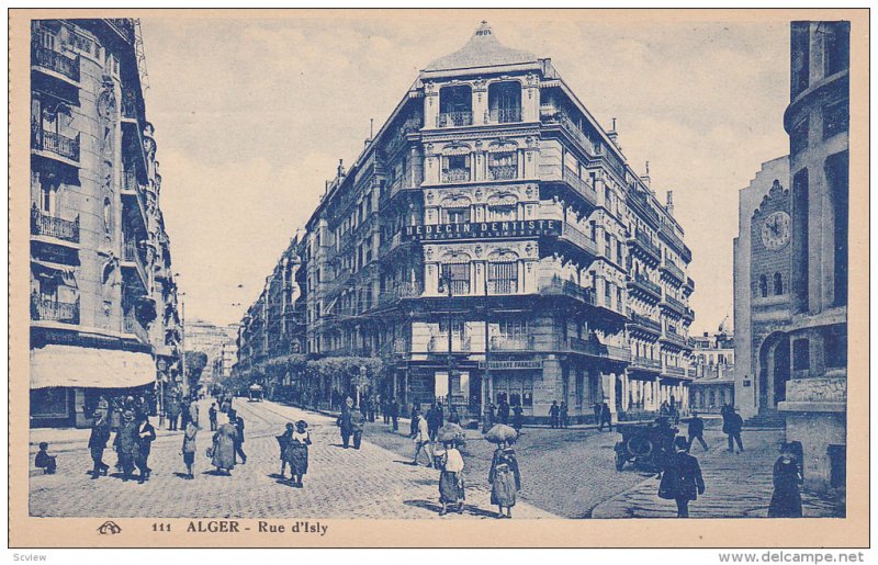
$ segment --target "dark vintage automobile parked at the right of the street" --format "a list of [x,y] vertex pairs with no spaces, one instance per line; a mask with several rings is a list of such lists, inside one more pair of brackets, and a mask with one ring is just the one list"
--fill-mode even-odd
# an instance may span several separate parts
[[665,455],[673,451],[677,428],[671,426],[667,417],[656,418],[651,423],[620,423],[622,440],[616,443],[616,470],[622,471],[624,464],[657,473],[662,471]]

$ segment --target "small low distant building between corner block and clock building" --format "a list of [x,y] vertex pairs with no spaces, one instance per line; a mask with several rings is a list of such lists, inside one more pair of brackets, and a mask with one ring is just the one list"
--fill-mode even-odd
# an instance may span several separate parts
[[716,334],[693,338],[695,381],[690,385],[689,409],[719,413],[724,405],[735,405],[734,336],[727,317]]

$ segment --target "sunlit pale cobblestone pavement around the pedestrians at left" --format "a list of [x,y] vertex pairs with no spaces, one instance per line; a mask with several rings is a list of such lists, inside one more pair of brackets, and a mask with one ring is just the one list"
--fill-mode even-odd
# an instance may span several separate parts
[[[202,404],[206,427],[209,404]],[[362,448],[345,450],[333,418],[270,402],[235,407],[247,425],[244,450],[247,463],[232,476],[213,475],[204,451],[211,432],[199,434],[195,479],[182,477],[181,432],[158,431],[149,465],[153,476],[145,484],[123,482],[111,474],[92,481],[88,434],[81,431],[40,431],[32,438],[31,464],[38,441],[49,441],[58,456],[58,473],[32,473],[32,516],[52,517],[191,517],[191,518],[440,518],[438,473],[406,464],[407,457],[376,445],[369,438]],[[308,474],[304,488],[278,478],[279,448],[274,436],[285,422],[305,419],[312,440]],[[108,449],[104,461],[112,465],[115,453]],[[111,468],[112,471],[112,468]],[[485,475],[486,476],[486,475]],[[552,518],[526,501],[514,510],[516,518]],[[466,505],[460,516],[440,519],[493,518],[487,481],[473,475],[468,484]]]

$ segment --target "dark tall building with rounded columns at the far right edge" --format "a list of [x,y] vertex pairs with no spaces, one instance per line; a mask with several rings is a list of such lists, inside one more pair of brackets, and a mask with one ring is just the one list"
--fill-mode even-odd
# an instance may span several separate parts
[[790,380],[778,409],[803,444],[806,484],[844,488],[851,24],[790,32]]

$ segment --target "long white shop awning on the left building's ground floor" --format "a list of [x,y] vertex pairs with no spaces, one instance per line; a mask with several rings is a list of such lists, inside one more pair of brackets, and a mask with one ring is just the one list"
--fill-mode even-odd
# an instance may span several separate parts
[[155,380],[156,363],[148,353],[74,346],[31,350],[31,388],[131,388]]

